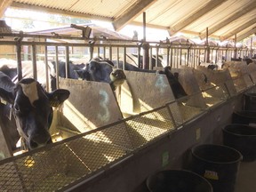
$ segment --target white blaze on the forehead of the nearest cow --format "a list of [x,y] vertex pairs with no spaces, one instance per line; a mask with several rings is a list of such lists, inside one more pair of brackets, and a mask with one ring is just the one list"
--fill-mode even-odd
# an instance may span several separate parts
[[28,100],[30,101],[31,105],[34,106],[34,101],[39,99],[36,82],[32,82],[31,84],[20,85],[22,87],[22,92],[28,97]]

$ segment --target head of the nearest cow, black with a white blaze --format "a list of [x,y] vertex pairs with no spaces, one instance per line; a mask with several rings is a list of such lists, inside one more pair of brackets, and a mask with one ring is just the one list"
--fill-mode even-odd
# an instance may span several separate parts
[[9,89],[0,88],[0,97],[12,105],[17,130],[29,149],[52,142],[48,131],[52,124],[52,107],[67,100],[69,93],[62,89],[45,92],[32,78],[22,79]]

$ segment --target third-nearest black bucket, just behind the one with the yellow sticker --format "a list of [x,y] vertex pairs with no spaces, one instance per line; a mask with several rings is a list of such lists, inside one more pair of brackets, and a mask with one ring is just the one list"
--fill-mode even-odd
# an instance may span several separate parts
[[223,144],[236,148],[243,161],[256,159],[256,128],[247,124],[228,124],[223,129]]

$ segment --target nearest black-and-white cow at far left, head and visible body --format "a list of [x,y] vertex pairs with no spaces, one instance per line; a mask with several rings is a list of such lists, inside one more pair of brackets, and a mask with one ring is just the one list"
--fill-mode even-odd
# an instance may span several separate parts
[[1,125],[9,134],[7,140],[12,149],[16,148],[20,137],[28,149],[51,143],[48,129],[52,124],[52,107],[58,107],[69,94],[64,89],[45,92],[33,78],[24,78],[14,84],[9,76],[0,72],[0,97],[6,101],[0,105]]

